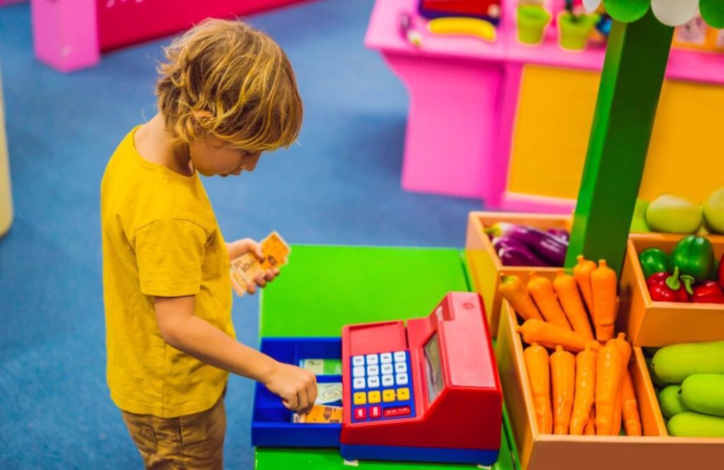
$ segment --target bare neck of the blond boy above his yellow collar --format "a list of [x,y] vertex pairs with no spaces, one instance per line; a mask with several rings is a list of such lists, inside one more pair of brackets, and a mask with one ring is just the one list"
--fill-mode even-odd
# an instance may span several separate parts
[[174,142],[173,134],[166,128],[164,117],[160,113],[136,131],[134,143],[143,159],[167,167],[180,175],[193,175],[188,145]]

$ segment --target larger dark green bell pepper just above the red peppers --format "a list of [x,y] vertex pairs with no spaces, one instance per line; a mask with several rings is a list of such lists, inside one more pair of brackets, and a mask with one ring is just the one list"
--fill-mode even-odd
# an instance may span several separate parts
[[714,267],[714,247],[704,237],[688,235],[676,243],[671,256],[669,256],[668,269],[673,272],[678,267],[681,272],[686,292],[693,293],[691,285],[702,282],[709,277]]

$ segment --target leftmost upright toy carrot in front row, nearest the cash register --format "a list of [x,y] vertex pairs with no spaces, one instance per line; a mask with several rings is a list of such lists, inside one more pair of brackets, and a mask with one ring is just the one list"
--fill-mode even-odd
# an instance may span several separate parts
[[531,382],[531,395],[533,395],[538,430],[543,434],[550,434],[553,428],[553,415],[550,406],[548,351],[543,346],[533,343],[523,351],[523,359],[526,362],[528,379]]

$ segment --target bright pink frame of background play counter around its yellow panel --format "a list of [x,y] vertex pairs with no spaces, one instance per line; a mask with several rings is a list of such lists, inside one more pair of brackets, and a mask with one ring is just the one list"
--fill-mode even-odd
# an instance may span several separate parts
[[[502,0],[497,40],[431,35],[416,0],[377,0],[365,38],[410,93],[402,186],[405,190],[484,199],[487,208],[570,212],[573,201],[505,200],[510,143],[526,64],[602,68],[605,49],[560,49],[556,28],[540,46],[515,38],[517,0]],[[558,2],[560,3],[560,2]],[[400,12],[413,14],[422,46],[400,35]],[[724,83],[724,55],[673,50],[667,77]]]

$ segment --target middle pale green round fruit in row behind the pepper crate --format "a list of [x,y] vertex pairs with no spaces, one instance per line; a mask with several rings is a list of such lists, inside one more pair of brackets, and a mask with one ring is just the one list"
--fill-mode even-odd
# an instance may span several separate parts
[[654,232],[694,233],[702,224],[702,207],[685,198],[664,194],[647,207],[646,222]]

